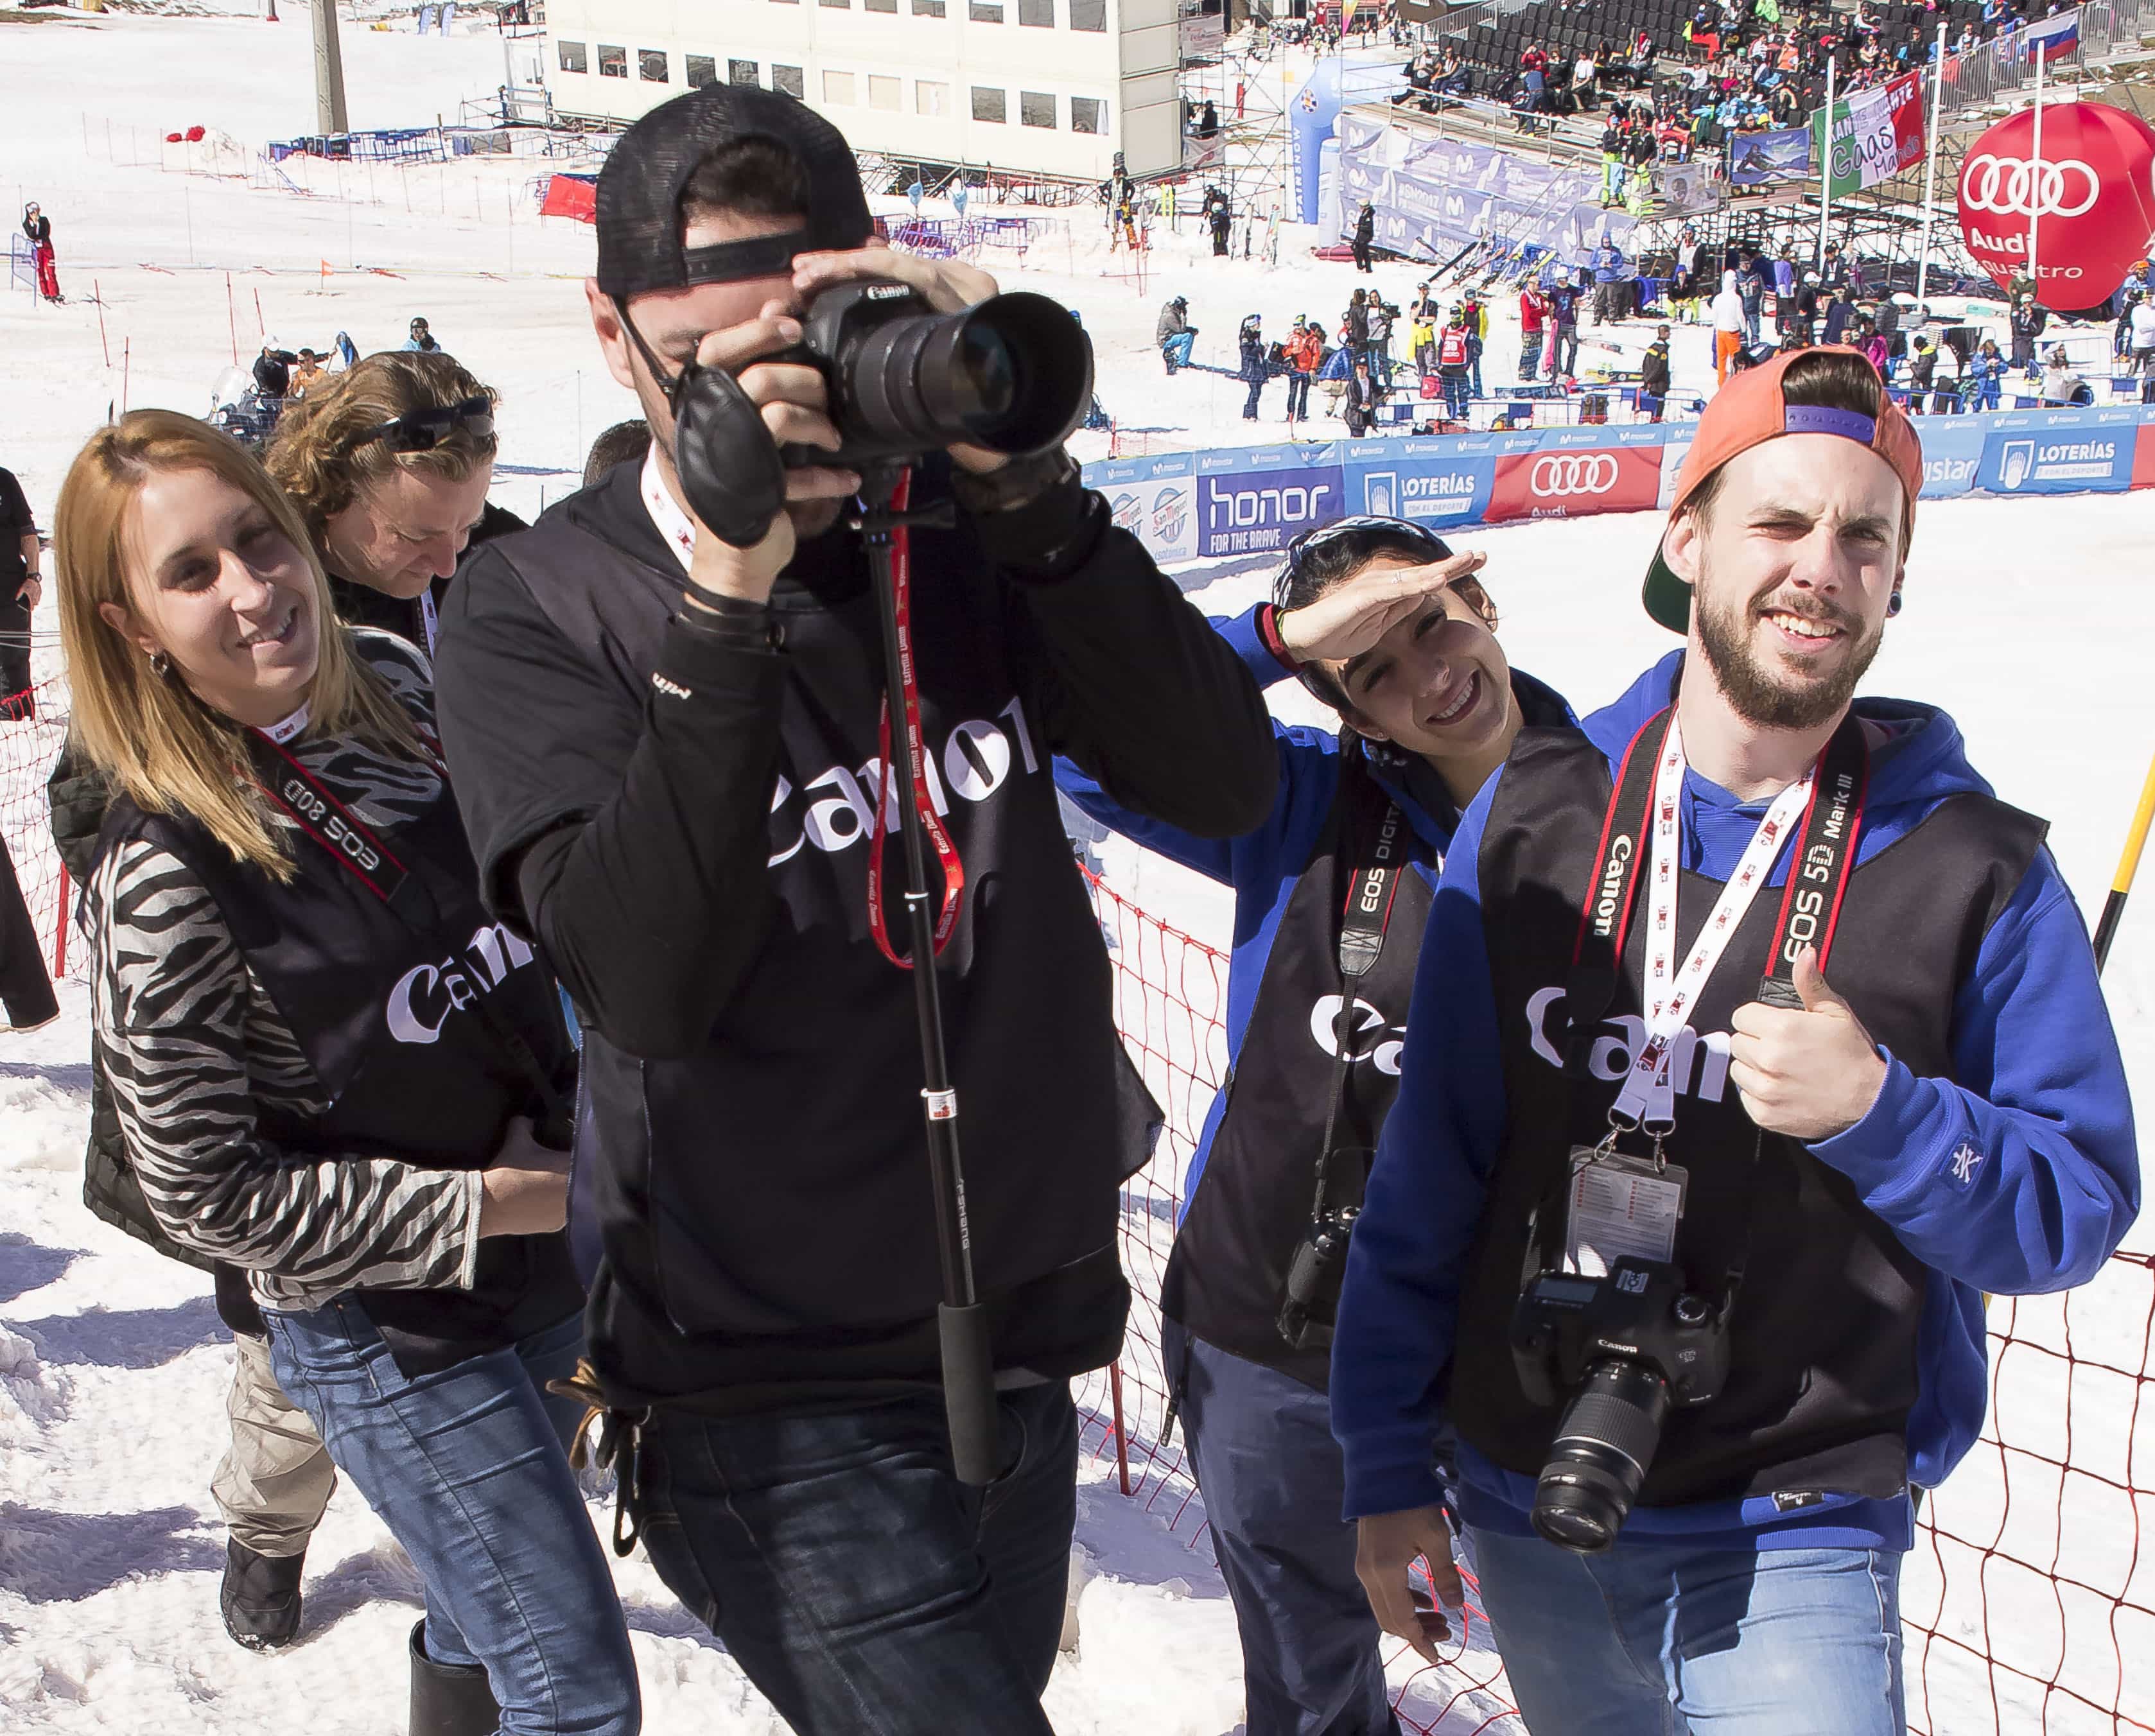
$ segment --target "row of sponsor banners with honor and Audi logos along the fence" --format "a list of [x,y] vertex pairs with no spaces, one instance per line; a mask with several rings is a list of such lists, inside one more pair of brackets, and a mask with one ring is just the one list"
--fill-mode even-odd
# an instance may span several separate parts
[[[1692,422],[1228,446],[1084,467],[1162,564],[1274,556],[1349,513],[1435,532],[1668,508]],[[1922,416],[1922,498],[2155,487],[2155,407]]]

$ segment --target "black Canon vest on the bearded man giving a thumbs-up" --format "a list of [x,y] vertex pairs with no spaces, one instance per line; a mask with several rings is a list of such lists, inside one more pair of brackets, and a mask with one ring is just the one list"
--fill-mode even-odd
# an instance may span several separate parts
[[[1483,935],[1502,1032],[1508,1126],[1468,1262],[1448,1413],[1506,1471],[1537,1475],[1558,1411],[1528,1402],[1508,1331],[1534,1271],[1539,1210],[1560,1210],[1575,1144],[1608,1131],[1608,1107],[1642,1038],[1638,980],[1644,898],[1625,974],[1590,1049],[1590,1079],[1558,1070],[1565,982],[1610,801],[1610,769],[1577,730],[1519,737],[1480,849]],[[2043,823],[1980,795],[1946,797],[1853,870],[1827,971],[1864,1030],[1922,1077],[1952,1077],[1950,1019],[1985,933],[2043,842]],[[1683,956],[1720,896],[1685,872]],[[1918,1394],[1918,1325],[1929,1271],[1799,1142],[1761,1135],[1728,1081],[1728,1021],[1758,997],[1780,898],[1752,900],[1677,1040],[1670,1163],[1690,1170],[1677,1262],[1720,1292],[1743,1264],[1722,1396],[1672,1411],[1640,1499],[1646,1506],[1752,1495],[1907,1486],[1907,1413]],[[1556,1202],[1556,1204],[1552,1204]],[[1552,1238],[1554,1241],[1554,1238]]]

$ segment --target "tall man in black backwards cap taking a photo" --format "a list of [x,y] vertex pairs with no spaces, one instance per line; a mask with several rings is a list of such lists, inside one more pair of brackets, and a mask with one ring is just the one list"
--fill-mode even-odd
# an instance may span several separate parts
[[[442,734],[487,896],[584,1021],[590,1378],[636,1430],[616,1462],[666,1583],[802,1736],[1045,1732],[1069,1378],[1121,1346],[1118,1187],[1157,1120],[1052,758],[1213,838],[1263,821],[1278,769],[1241,659],[1060,444],[914,463],[907,510],[955,515],[909,528],[884,618],[840,523],[864,405],[946,429],[937,403],[987,396],[996,358],[862,379],[817,347],[815,306],[868,282],[918,334],[996,284],[868,241],[851,151],[789,97],[713,86],[623,136],[586,295],[651,454],[468,566]],[[1032,386],[1082,360],[1049,312],[1004,358]],[[718,541],[726,489],[774,470],[774,442],[784,510]],[[888,696],[886,629],[912,676]],[[884,778],[892,728],[920,745],[912,790]],[[963,1109],[1000,1430],[985,1488],[959,1482],[944,1415],[922,1025],[894,967],[903,887],[879,870],[905,801],[944,879],[940,961],[907,963],[935,971]]]

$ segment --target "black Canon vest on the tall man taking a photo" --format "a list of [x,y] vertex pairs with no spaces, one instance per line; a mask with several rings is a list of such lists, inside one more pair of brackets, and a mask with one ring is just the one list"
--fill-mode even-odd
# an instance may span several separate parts
[[[636,502],[634,489],[623,500]],[[677,566],[560,515],[500,554],[595,668],[649,691],[681,607]],[[815,594],[787,584],[771,599],[787,650],[774,930],[696,1053],[640,1060],[584,1032],[593,1114],[573,1208],[606,1247],[593,1355],[603,1348],[608,1376],[651,1396],[703,1391],[720,1370],[800,1378],[806,1353],[817,1372],[843,1372],[853,1350],[881,1370],[868,1346],[918,1335],[942,1299],[914,986],[868,935],[881,627],[858,549],[832,566]],[[1009,603],[961,528],[916,528],[912,573],[931,790],[965,866],[937,976],[974,1279],[993,1299],[1067,1273],[1090,1297],[1082,1368],[1095,1368],[1114,1355],[1127,1301],[1118,1182],[1151,1154],[1159,1114],[1114,1034],[1108,954],[1062,836],[1052,750],[1017,694]],[[884,887],[903,950],[899,799],[892,790]],[[933,859],[929,885],[933,896]],[[700,1340],[698,1355],[638,1340],[608,1286]],[[1004,1342],[998,1333],[1006,1363]],[[933,1366],[929,1348],[920,1372]]]

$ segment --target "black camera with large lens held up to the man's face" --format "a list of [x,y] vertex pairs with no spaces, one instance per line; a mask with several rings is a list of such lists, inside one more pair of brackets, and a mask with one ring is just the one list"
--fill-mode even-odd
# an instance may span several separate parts
[[944,446],[1013,459],[1069,439],[1093,403],[1093,345],[1069,308],[1015,291],[940,314],[899,282],[834,284],[808,304],[802,340],[769,362],[806,362],[830,390],[845,442],[771,444],[739,381],[687,366],[668,396],[690,508],[722,543],[761,543],[784,508],[787,467],[862,470]]

